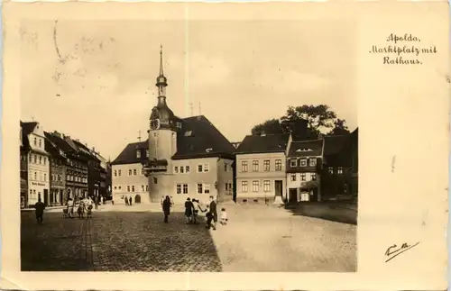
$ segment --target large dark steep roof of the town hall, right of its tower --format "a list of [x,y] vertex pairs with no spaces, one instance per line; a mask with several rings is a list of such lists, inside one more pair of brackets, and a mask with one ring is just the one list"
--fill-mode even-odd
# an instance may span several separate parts
[[204,115],[185,118],[177,133],[177,152],[172,159],[233,158],[234,146]]

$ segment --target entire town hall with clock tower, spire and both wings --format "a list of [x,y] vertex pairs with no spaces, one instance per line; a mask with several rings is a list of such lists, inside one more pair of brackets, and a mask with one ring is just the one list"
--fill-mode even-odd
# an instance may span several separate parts
[[[175,203],[184,202],[188,197],[204,202],[209,196],[218,202],[232,200],[235,147],[204,115],[179,118],[170,110],[166,102],[168,82],[163,73],[162,51],[160,58],[158,100],[152,108],[149,139],[127,145],[112,162],[113,172],[120,167],[142,165],[137,166],[147,179],[142,203],[159,203],[162,196],[172,196]],[[123,188],[119,191],[117,181],[113,176],[115,203],[121,203],[122,196],[138,194],[136,188],[130,192],[127,189],[126,194]]]

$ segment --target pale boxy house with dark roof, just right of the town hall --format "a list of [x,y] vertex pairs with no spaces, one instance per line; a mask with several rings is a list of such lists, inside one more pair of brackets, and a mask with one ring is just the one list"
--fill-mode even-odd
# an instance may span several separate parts
[[282,203],[290,134],[248,135],[236,149],[236,201]]

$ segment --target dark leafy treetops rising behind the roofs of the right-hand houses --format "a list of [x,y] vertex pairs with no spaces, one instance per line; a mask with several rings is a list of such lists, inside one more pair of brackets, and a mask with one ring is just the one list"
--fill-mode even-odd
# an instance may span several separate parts
[[299,125],[299,121],[302,120],[307,123],[307,134],[310,137],[318,137],[320,133],[326,135],[349,133],[345,120],[337,118],[336,113],[329,106],[301,105],[289,106],[287,113],[281,116],[281,119],[271,119],[255,125],[252,134],[293,132],[299,129],[299,126],[302,126]]

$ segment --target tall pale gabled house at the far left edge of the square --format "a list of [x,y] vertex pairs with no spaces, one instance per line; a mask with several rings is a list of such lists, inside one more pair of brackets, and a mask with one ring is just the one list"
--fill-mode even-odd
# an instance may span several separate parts
[[36,122],[22,123],[28,151],[28,196],[27,205],[32,206],[41,199],[50,205],[50,159],[45,150],[45,136],[41,125]]

